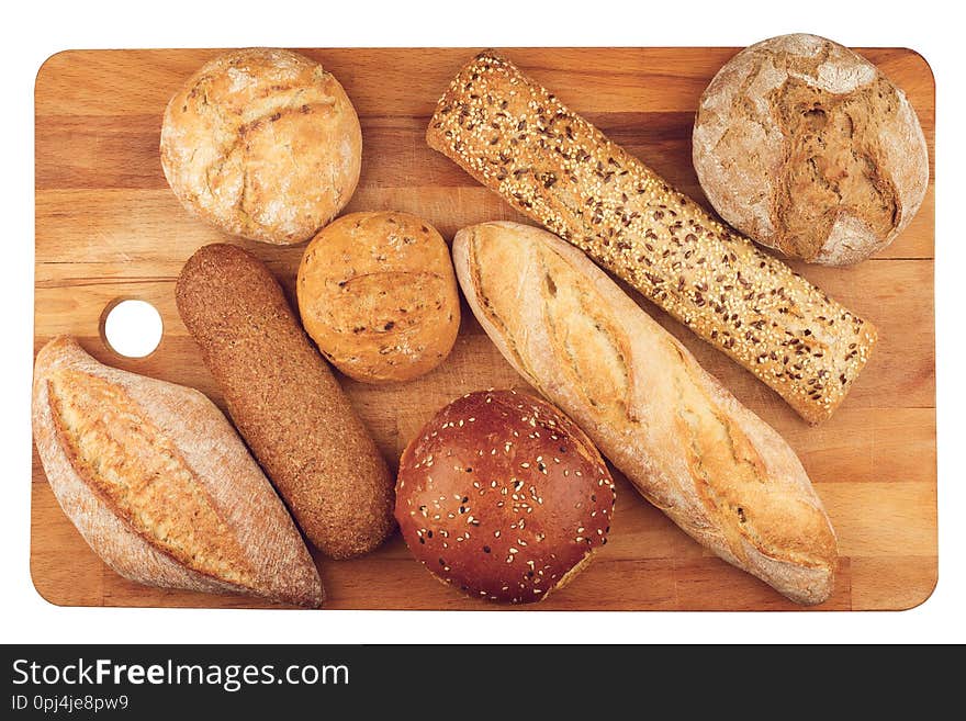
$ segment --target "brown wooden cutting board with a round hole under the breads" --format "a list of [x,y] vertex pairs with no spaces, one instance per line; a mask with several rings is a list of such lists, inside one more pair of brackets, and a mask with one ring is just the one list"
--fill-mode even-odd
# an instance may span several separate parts
[[[496,195],[424,142],[436,100],[474,49],[313,49],[359,112],[363,165],[349,211],[408,211],[448,239],[461,226],[518,219]],[[507,49],[537,81],[614,140],[704,202],[690,164],[698,97],[734,48]],[[72,334],[99,360],[222,398],[175,308],[175,280],[202,245],[229,239],[189,216],[158,159],[161,113],[178,86],[217,52],[70,50],[36,81],[35,352]],[[861,50],[905,89],[934,157],[935,88],[907,49]],[[903,609],[936,582],[933,185],[909,228],[855,268],[796,264],[880,329],[881,339],[835,416],[808,427],[767,387],[641,301],[738,398],[799,454],[839,533],[838,586],[822,609]],[[302,247],[233,241],[265,259],[291,292]],[[117,298],[161,313],[148,358],[125,359],[99,331]],[[465,307],[464,307],[465,311]],[[435,412],[472,390],[524,387],[469,312],[450,358],[412,383],[341,379],[393,464]],[[618,477],[609,543],[551,609],[789,609],[765,584],[718,560]],[[168,592],[125,581],[88,549],[50,493],[34,452],[31,572],[40,594],[67,606],[260,607],[244,597]],[[318,559],[328,608],[481,609],[429,575],[398,534],[366,557]]]

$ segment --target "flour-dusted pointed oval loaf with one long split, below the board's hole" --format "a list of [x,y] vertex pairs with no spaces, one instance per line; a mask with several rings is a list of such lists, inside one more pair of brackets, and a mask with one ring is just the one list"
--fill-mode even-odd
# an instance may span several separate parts
[[64,512],[125,578],[322,604],[285,507],[198,391],[102,365],[60,336],[37,354],[33,426]]

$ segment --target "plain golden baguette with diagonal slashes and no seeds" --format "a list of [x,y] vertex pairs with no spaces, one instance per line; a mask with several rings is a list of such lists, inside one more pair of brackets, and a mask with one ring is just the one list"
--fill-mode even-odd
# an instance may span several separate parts
[[506,359],[695,540],[799,604],[836,542],[795,452],[584,254],[527,225],[453,240],[463,294]]

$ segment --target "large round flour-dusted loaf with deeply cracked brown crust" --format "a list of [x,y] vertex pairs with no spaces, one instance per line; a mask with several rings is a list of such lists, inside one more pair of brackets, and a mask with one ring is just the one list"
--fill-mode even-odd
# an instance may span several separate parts
[[701,95],[694,165],[724,221],[786,256],[845,266],[909,224],[929,154],[906,94],[815,35],[735,55]]

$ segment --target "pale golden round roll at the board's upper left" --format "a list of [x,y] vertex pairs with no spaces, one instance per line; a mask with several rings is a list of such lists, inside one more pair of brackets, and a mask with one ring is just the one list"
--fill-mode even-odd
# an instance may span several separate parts
[[188,79],[165,110],[160,149],[190,212],[232,235],[288,245],[349,202],[362,132],[346,91],[318,63],[251,48]]

